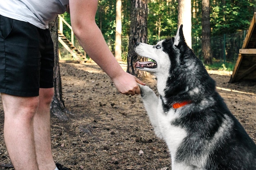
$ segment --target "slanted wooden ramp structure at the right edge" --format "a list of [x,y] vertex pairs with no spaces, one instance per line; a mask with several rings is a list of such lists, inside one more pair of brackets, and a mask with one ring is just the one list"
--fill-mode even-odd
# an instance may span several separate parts
[[256,81],[256,13],[252,18],[242,49],[239,50],[229,83],[237,81]]

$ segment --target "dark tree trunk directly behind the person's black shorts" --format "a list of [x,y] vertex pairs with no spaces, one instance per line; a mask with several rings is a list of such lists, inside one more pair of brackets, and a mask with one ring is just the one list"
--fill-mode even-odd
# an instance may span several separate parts
[[70,112],[66,109],[62,99],[61,72],[58,62],[58,17],[49,22],[49,30],[54,43],[54,96],[51,103],[51,113],[61,120],[68,120],[67,114]]

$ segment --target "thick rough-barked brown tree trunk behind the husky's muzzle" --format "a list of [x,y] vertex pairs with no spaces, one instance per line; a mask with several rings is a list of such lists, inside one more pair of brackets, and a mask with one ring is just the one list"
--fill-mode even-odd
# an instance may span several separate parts
[[130,13],[130,35],[127,57],[127,72],[138,76],[146,77],[146,72],[135,70],[134,65],[137,61],[145,61],[144,58],[137,56],[134,47],[136,42],[147,43],[147,22],[148,2],[147,0],[131,0]]

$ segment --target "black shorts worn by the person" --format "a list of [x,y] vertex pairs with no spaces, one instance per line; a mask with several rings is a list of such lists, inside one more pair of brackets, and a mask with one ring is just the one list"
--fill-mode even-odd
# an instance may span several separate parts
[[53,87],[53,48],[49,29],[0,15],[0,92],[38,96]]

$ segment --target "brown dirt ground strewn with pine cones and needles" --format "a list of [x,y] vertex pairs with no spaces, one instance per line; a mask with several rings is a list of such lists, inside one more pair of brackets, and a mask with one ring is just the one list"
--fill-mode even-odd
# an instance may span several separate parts
[[[94,63],[60,65],[63,100],[72,114],[66,122],[52,116],[56,162],[72,170],[171,170],[168,149],[155,136],[139,95],[119,94]],[[256,142],[256,83],[229,84],[230,72],[209,74],[231,112]],[[154,77],[144,82],[156,90]],[[0,102],[0,163],[8,164],[3,122]]]

